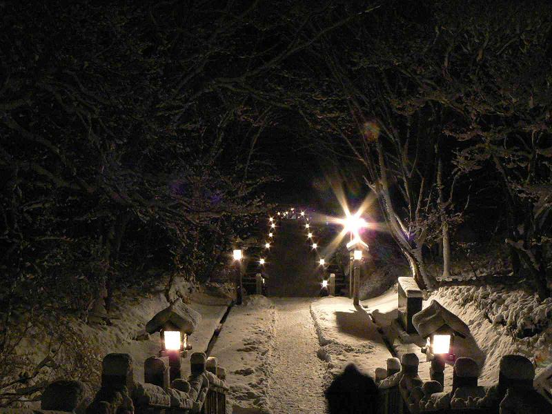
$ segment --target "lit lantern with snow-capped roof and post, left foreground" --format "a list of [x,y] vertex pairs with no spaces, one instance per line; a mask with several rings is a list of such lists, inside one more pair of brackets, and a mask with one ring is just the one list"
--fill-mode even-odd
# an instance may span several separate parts
[[178,298],[146,324],[147,333],[159,332],[159,356],[168,357],[171,381],[181,377],[181,357],[192,348],[188,344],[188,335],[195,331],[200,321],[201,315]]

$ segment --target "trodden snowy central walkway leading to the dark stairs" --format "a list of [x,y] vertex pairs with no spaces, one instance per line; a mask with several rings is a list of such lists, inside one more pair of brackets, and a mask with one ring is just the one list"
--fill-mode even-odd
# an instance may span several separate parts
[[274,299],[276,305],[273,375],[269,399],[274,414],[325,413],[326,363],[319,348],[310,306],[313,299]]

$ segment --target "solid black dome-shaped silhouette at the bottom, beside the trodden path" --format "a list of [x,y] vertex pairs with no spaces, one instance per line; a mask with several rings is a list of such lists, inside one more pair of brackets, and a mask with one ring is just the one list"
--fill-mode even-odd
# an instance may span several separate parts
[[326,390],[330,414],[377,413],[377,386],[374,380],[348,364]]

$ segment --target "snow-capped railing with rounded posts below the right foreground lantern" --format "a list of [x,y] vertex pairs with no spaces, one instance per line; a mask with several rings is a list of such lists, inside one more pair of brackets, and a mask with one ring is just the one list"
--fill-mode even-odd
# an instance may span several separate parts
[[[452,391],[443,392],[437,381],[422,382],[417,375],[418,358],[406,353],[402,364],[390,358],[386,368],[377,368],[376,382],[380,391],[380,414],[513,414],[552,413],[552,406],[533,389],[535,370],[520,355],[500,359],[498,383],[478,386],[479,367],[468,357],[456,360]],[[400,371],[397,372],[397,368]]]

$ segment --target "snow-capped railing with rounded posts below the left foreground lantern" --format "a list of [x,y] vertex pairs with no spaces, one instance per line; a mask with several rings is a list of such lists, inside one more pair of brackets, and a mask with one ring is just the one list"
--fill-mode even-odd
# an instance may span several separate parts
[[[187,380],[169,382],[167,358],[150,357],[144,363],[144,383],[135,382],[132,358],[111,353],[103,358],[101,388],[86,414],[202,413],[226,414],[226,373],[215,357],[194,353]],[[75,413],[82,410],[83,385],[78,381],[52,382],[41,397],[41,409],[0,408],[0,413]]]

